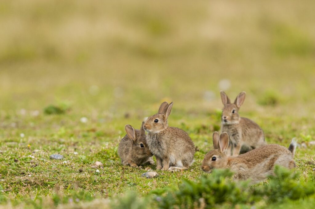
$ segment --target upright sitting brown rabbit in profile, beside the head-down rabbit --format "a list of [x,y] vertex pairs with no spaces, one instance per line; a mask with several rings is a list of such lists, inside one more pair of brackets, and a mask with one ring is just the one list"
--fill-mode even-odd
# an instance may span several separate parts
[[163,102],[157,114],[146,120],[144,129],[148,132],[149,149],[157,159],[157,169],[175,172],[191,166],[195,146],[185,131],[168,126],[167,118],[172,107],[173,102]]

